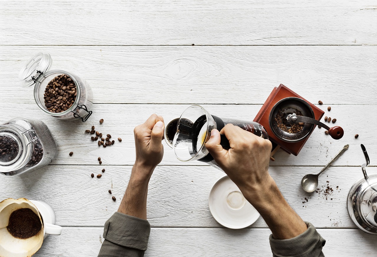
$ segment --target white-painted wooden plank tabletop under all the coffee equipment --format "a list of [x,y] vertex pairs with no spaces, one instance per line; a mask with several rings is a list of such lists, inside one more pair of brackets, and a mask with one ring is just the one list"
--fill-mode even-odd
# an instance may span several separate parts
[[[63,233],[49,236],[35,256],[97,256],[135,158],[133,127],[152,113],[169,121],[190,104],[253,119],[282,83],[322,100],[345,135],[335,141],[316,128],[299,156],[276,153],[271,175],[326,239],[326,256],[376,256],[377,237],[356,229],[346,211],[348,190],[362,177],[360,143],[371,158],[368,173],[377,172],[376,8],[374,0],[0,1],[0,122],[41,119],[59,148],[48,167],[2,177],[0,199],[43,200],[55,209]],[[51,54],[52,69],[90,83],[95,104],[87,122],[44,115],[32,89],[19,86],[19,70],[37,52]],[[84,133],[91,125],[123,141],[98,148]],[[339,189],[327,199],[305,193],[302,176],[319,172],[345,144],[349,150],[319,179],[320,188],[329,181]],[[271,256],[263,219],[232,230],[211,216],[208,193],[224,173],[179,162],[164,147],[149,186],[146,256]],[[101,179],[90,177],[102,168]]]

